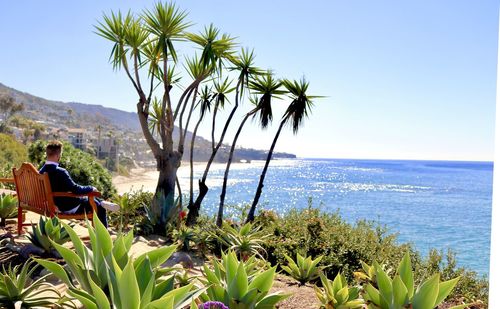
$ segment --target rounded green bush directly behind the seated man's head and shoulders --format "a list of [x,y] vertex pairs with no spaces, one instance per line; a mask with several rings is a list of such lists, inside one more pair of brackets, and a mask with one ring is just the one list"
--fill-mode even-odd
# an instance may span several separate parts
[[[116,194],[111,175],[96,158],[76,149],[68,142],[63,142],[63,144],[63,154],[59,164],[68,170],[76,183],[96,187],[104,199]],[[45,146],[46,142],[36,141],[29,147],[29,159],[35,166],[41,167],[45,162]]]

